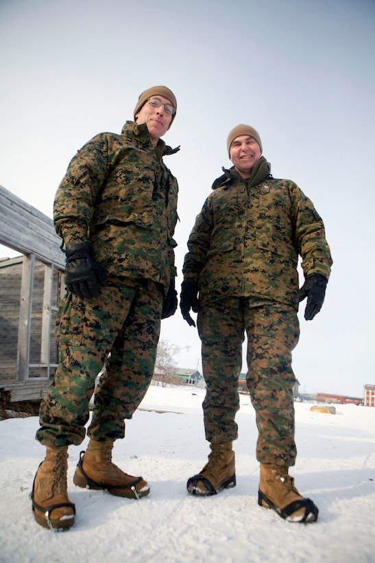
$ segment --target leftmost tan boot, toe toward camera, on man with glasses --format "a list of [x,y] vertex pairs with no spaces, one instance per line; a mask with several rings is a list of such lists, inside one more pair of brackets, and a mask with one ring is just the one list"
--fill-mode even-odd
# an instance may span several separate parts
[[32,486],[34,518],[41,526],[55,530],[73,526],[75,505],[69,501],[66,488],[68,448],[47,446]]

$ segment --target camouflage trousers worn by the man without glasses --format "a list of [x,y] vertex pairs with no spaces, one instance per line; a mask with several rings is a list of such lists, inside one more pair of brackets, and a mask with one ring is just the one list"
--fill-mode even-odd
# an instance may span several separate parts
[[[268,302],[269,303],[269,302]],[[278,303],[252,306],[250,299],[232,299],[202,306],[197,318],[206,380],[203,402],[206,439],[225,443],[237,439],[238,380],[242,343],[247,334],[247,388],[256,413],[256,459],[293,466],[294,441],[291,352],[300,328],[292,307]]]

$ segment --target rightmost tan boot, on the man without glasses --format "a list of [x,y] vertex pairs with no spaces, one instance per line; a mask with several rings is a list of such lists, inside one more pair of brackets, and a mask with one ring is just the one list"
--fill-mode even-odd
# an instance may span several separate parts
[[295,488],[288,468],[270,463],[261,463],[258,505],[275,510],[289,522],[315,522],[319,512],[313,501]]

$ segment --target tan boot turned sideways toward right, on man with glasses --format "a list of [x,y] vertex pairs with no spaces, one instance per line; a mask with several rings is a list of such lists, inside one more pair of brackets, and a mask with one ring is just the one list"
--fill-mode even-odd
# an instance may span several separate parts
[[110,494],[141,498],[149,494],[149,484],[143,477],[132,477],[112,463],[114,441],[90,439],[86,452],[80,453],[73,483],[88,489],[106,489]]

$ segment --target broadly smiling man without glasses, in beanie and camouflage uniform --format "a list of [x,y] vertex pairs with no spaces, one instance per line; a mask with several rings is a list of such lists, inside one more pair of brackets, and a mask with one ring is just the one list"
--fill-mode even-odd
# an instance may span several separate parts
[[[236,484],[238,379],[247,335],[247,387],[256,412],[259,505],[293,522],[318,509],[289,476],[295,464],[291,352],[298,343],[298,303],[311,320],[324,301],[332,260],[322,218],[290,180],[274,179],[257,131],[245,124],[227,139],[232,168],[223,169],[197,216],[184,260],[180,308],[202,341],[208,463],[187,483],[207,496]],[[298,289],[298,256],[304,284]],[[199,292],[199,299],[198,299]]]

